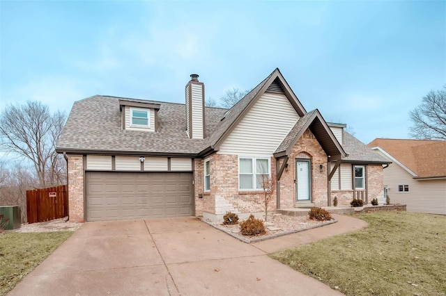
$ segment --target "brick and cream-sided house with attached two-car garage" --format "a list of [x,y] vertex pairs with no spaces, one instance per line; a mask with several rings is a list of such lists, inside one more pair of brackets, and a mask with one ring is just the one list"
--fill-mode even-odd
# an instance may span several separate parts
[[383,201],[389,161],[307,112],[275,69],[229,110],[204,106],[191,75],[185,104],[96,95],[76,101],[56,151],[68,162],[73,221],[261,213],[260,180],[276,208]]

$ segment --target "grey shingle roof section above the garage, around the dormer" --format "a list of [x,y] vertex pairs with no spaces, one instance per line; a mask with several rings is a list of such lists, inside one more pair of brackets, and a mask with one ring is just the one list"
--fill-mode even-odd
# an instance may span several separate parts
[[[76,101],[57,143],[58,151],[133,151],[154,154],[198,154],[208,140],[190,139],[185,131],[185,104],[160,104],[158,131],[121,129],[120,97],[94,96]],[[206,107],[206,134],[211,135],[226,109]]]

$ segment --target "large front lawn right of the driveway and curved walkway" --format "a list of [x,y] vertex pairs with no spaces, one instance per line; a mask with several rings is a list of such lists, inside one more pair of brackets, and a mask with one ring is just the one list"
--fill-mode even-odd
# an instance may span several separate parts
[[346,295],[446,295],[446,216],[355,217],[369,227],[271,256]]

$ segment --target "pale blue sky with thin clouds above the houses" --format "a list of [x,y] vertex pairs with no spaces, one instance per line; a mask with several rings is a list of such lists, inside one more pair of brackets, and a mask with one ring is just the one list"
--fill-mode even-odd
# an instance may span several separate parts
[[446,83],[446,1],[4,1],[0,109],[67,113],[108,94],[184,103],[254,88],[276,67],[307,110],[368,143],[408,138]]

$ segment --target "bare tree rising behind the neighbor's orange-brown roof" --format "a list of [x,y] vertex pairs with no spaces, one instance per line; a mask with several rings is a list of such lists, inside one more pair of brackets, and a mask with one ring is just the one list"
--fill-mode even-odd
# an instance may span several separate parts
[[413,122],[410,131],[413,138],[446,140],[446,85],[443,90],[428,92],[409,116]]

